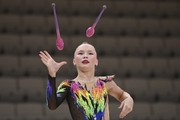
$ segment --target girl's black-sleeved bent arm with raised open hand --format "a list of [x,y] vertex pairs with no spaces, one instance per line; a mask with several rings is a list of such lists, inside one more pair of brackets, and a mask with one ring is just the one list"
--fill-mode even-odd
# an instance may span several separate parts
[[47,51],[40,51],[39,56],[41,61],[46,65],[48,69],[48,81],[47,81],[47,89],[46,89],[46,102],[48,107],[51,110],[56,109],[65,99],[66,92],[63,92],[60,96],[59,93],[56,94],[56,73],[60,69],[60,67],[66,64],[65,61],[57,63],[54,59],[49,55]]

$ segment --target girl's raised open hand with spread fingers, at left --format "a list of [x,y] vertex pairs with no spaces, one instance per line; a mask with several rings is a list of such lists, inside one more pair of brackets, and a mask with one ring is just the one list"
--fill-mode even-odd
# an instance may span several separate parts
[[51,77],[55,77],[56,72],[59,70],[59,68],[63,66],[64,64],[67,64],[66,61],[57,63],[56,61],[54,61],[54,59],[49,55],[47,51],[44,51],[44,52],[40,51],[39,56],[41,57],[41,61],[48,68],[48,72]]

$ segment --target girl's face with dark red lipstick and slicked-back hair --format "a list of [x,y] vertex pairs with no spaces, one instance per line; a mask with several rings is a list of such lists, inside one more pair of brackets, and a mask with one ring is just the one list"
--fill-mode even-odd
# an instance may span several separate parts
[[94,69],[94,66],[98,64],[95,48],[86,43],[78,46],[74,53],[73,64],[82,71]]

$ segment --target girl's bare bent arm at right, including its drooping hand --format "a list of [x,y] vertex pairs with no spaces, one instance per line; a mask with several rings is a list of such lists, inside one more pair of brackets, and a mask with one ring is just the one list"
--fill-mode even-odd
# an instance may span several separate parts
[[134,101],[132,97],[129,93],[123,91],[119,86],[117,86],[113,80],[106,83],[106,88],[109,95],[121,102],[121,105],[118,107],[119,109],[122,108],[119,118],[124,118],[133,109]]

